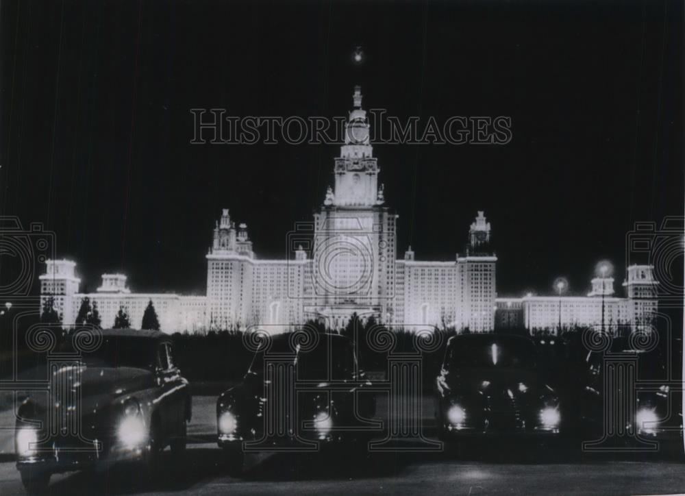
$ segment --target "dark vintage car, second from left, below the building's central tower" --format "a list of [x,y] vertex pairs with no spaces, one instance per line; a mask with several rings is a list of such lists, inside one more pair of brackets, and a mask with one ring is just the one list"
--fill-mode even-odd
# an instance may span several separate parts
[[290,332],[263,340],[242,382],[216,402],[218,443],[234,475],[242,471],[246,449],[362,447],[377,427],[370,420],[371,382],[358,369],[351,341],[316,333],[299,344],[300,337]]

